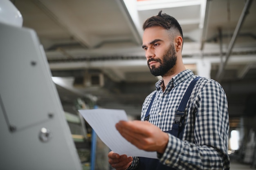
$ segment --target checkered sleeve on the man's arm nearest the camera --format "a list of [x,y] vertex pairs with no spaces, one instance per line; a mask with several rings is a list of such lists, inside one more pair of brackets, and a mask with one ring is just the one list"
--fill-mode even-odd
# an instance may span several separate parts
[[227,98],[220,84],[207,81],[196,95],[193,107],[194,140],[181,141],[169,134],[160,162],[177,170],[228,170],[229,117]]

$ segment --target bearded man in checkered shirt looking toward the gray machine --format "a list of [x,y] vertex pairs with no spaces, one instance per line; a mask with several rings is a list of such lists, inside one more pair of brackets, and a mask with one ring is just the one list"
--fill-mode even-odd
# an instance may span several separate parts
[[[201,77],[186,105],[181,139],[167,132],[173,130],[181,99],[191,81],[198,76],[186,70],[182,62],[183,35],[175,18],[160,11],[144,22],[143,29],[142,47],[148,67],[153,75],[161,75],[162,79],[155,84],[156,91],[145,99],[142,121],[120,121],[116,128],[137,148],[156,151],[158,162],[145,162],[140,157],[127,157],[111,151],[109,163],[116,170],[228,170],[229,117],[224,90],[218,82]],[[155,99],[152,99],[155,92]],[[149,118],[145,119],[151,100]],[[142,164],[150,166],[141,168]]]

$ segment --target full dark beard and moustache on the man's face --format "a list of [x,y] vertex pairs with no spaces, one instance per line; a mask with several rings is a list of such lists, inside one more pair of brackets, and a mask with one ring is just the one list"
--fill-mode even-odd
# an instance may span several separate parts
[[[170,45],[169,49],[167,49],[166,53],[163,55],[162,58],[163,59],[161,60],[154,59],[153,57],[148,60],[148,67],[151,74],[155,76],[163,76],[175,66],[177,61],[177,55],[173,44]],[[160,65],[158,67],[152,66],[152,68],[150,68],[149,62],[151,61],[159,62]]]

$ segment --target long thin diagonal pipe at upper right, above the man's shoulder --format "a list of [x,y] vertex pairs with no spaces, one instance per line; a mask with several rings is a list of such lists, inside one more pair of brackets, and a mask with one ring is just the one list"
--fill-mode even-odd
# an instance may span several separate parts
[[252,0],[247,0],[245,2],[245,7],[240,15],[240,18],[238,20],[238,23],[236,25],[236,29],[233,33],[233,36],[229,42],[229,46],[228,46],[228,49],[227,49],[227,53],[226,53],[226,57],[225,57],[225,61],[223,63],[220,63],[220,67],[219,67],[219,70],[218,70],[218,73],[216,75],[216,81],[218,82],[221,82],[222,78],[223,78],[223,75],[224,75],[224,68],[226,67],[227,65],[227,62],[229,60],[229,57],[230,57],[230,54],[231,54],[231,51],[234,47],[234,44],[235,44],[235,41],[236,41],[236,38],[237,38],[237,35],[238,35],[238,32],[240,31],[240,28],[245,20],[245,17],[246,15],[249,13],[249,7],[251,6],[252,4]]

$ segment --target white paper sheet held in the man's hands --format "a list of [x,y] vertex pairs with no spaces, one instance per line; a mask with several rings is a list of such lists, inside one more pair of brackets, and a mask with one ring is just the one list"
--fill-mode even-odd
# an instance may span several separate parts
[[127,121],[124,110],[115,109],[90,109],[79,110],[84,119],[97,133],[99,138],[115,153],[126,154],[128,157],[148,157],[157,158],[156,152],[146,152],[138,149],[128,142],[115,128],[115,124],[120,120]]

